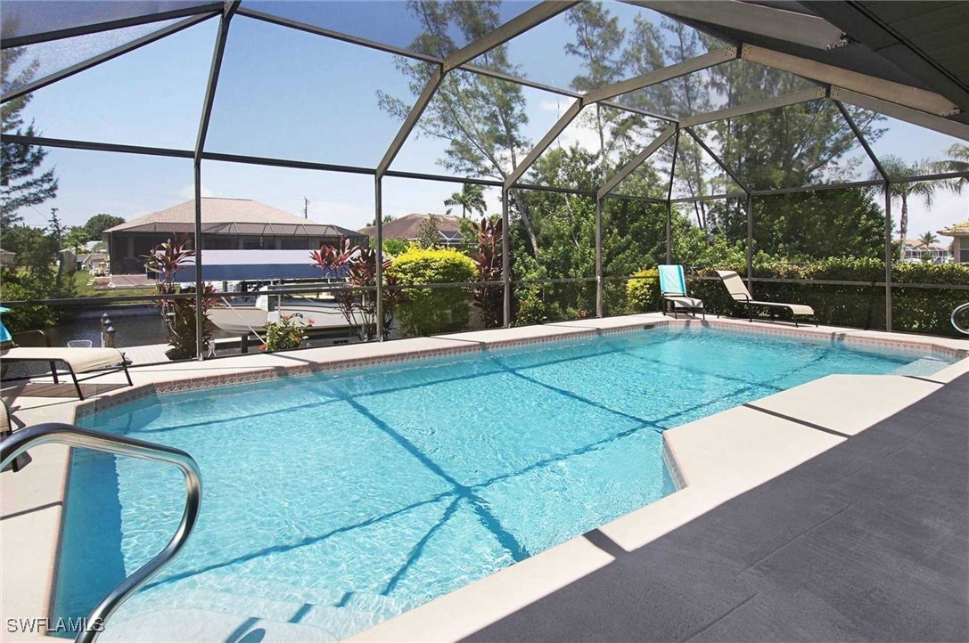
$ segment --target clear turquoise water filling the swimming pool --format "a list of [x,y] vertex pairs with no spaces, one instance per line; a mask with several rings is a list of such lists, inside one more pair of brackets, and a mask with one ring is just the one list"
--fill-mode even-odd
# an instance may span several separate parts
[[[672,493],[665,429],[831,373],[948,361],[704,329],[163,395],[85,418],[203,472],[185,550],[117,615],[195,609],[342,637]],[[55,612],[154,555],[181,475],[76,452]]]

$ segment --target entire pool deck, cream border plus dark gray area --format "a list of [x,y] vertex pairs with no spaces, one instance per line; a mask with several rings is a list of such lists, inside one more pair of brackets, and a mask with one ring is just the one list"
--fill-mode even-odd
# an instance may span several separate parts
[[[2,393],[15,425],[73,422],[158,392],[664,323],[701,322],[650,314],[147,366],[133,369],[134,387],[116,376],[82,383],[85,402],[71,384]],[[708,325],[969,351],[969,341],[856,329]],[[967,640],[967,400],[963,358],[929,378],[828,376],[677,427],[664,440],[680,491],[354,638]],[[31,455],[0,489],[8,618],[47,616],[53,581],[68,449]],[[296,634],[276,625],[267,641]]]

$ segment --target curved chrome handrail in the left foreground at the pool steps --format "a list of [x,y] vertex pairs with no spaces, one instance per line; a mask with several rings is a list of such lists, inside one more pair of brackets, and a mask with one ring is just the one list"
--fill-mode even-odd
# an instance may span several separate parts
[[0,470],[28,448],[49,443],[67,444],[116,455],[129,455],[142,460],[164,462],[178,467],[185,475],[187,491],[185,511],[172,539],[154,558],[125,578],[120,585],[108,593],[108,596],[101,599],[87,617],[84,624],[86,627],[81,628],[75,638],[75,643],[94,643],[117,608],[161,571],[162,567],[167,566],[172,561],[172,557],[185,545],[199,517],[199,507],[202,504],[202,477],[195,459],[181,449],[82,429],[60,422],[37,424],[20,429],[0,443]]

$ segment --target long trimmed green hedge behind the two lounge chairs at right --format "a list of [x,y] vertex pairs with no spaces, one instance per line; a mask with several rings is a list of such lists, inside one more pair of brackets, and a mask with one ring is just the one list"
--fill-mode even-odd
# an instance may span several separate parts
[[[718,266],[746,275],[744,265]],[[641,274],[651,274],[643,271]],[[698,278],[699,277],[699,278]],[[780,262],[755,263],[754,277],[765,279],[800,279],[885,281],[885,265],[880,260],[837,258],[810,264]],[[627,282],[629,312],[659,310],[657,280]],[[703,299],[707,313],[746,316],[716,277],[712,268],[702,268],[688,275],[690,293]],[[957,337],[949,316],[959,303],[969,301],[969,291],[949,289],[905,288],[905,284],[939,284],[969,286],[969,266],[958,263],[901,263],[892,266],[892,329],[929,335]],[[648,286],[647,286],[648,285]],[[786,284],[755,282],[758,298],[807,304],[824,324],[855,328],[885,328],[884,286],[839,286],[831,284]],[[636,292],[636,296],[634,296]],[[783,319],[783,314],[782,319]]]

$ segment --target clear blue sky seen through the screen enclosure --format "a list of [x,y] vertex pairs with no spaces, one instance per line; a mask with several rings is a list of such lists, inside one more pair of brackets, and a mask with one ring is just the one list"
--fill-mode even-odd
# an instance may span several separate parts
[[[533,3],[509,3],[504,17]],[[253,3],[273,11],[273,3]],[[654,14],[610,3],[622,24],[633,15]],[[315,20],[367,38],[406,46],[416,33],[403,3],[297,3],[277,5],[281,15]],[[144,33],[132,30],[124,36]],[[208,76],[216,22],[175,34],[125,54],[99,67],[35,92],[28,107],[44,136],[191,149],[195,143],[203,91]],[[119,34],[72,39],[37,48],[51,61],[76,62],[115,44]],[[574,38],[564,15],[513,41],[510,55],[521,74],[567,86],[574,61],[563,44]],[[461,43],[458,43],[459,45]],[[53,65],[51,65],[53,66]],[[377,91],[409,98],[406,80],[394,57],[319,36],[236,16],[230,32],[206,149],[374,167],[396,134],[398,122],[381,111]],[[529,124],[525,132],[537,141],[571,99],[525,89]],[[891,121],[889,132],[874,144],[877,154],[896,154],[914,161],[939,158],[954,139]],[[590,148],[594,136],[573,126],[560,139]],[[436,164],[444,143],[413,138],[402,148],[393,169],[449,173]],[[37,210],[23,211],[25,222],[42,225],[49,207],[76,225],[99,212],[127,219],[186,199],[193,194],[192,164],[180,159],[51,149],[48,164],[60,178],[57,199]],[[866,173],[865,171],[861,172]],[[865,178],[860,176],[860,178]],[[443,201],[458,183],[385,179],[384,212],[443,212]],[[258,199],[309,216],[319,222],[359,228],[373,216],[373,179],[365,175],[261,168],[227,163],[203,164],[206,196]],[[497,191],[486,193],[491,211],[499,208]],[[940,193],[929,211],[910,204],[910,230],[939,230],[969,216],[969,195]]]

